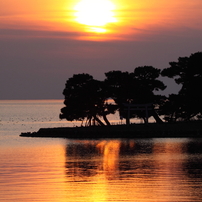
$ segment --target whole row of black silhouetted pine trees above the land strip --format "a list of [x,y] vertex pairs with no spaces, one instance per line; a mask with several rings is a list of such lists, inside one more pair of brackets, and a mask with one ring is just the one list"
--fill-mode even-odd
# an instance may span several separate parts
[[[146,122],[144,110],[133,110],[128,117],[125,105],[150,103],[148,116],[156,122],[190,121],[202,114],[202,52],[179,57],[163,70],[141,66],[134,72],[109,71],[103,81],[89,74],[76,74],[66,81],[63,95],[65,107],[60,118],[79,120],[86,126],[110,125],[107,115],[119,112],[120,118],[140,118]],[[182,87],[178,94],[157,95],[166,86],[160,76],[175,79]],[[113,102],[109,102],[113,100]]]

